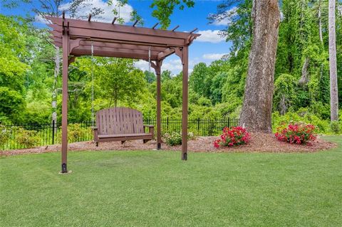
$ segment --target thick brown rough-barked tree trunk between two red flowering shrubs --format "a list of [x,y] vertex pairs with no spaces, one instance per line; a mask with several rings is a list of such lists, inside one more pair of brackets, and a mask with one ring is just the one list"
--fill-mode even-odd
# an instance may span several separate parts
[[271,132],[274,67],[280,12],[277,0],[254,0],[253,43],[240,124],[252,132]]

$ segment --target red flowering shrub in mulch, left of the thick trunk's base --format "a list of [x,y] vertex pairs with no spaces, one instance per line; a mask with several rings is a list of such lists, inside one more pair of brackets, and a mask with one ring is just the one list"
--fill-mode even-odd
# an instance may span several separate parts
[[221,139],[214,141],[214,147],[247,144],[250,138],[249,133],[243,127],[224,127]]

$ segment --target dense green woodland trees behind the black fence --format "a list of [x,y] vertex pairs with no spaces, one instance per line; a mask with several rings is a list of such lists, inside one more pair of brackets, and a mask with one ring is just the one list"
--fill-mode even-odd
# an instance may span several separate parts
[[[232,6],[234,10],[230,10]],[[298,118],[327,127],[330,117],[328,1],[283,0],[280,10],[274,122]],[[221,34],[232,47],[222,60],[195,65],[189,79],[190,117],[239,117],[252,44],[251,12],[252,0],[224,1],[218,6],[217,14],[209,16],[211,22],[229,18]],[[0,119],[51,122],[51,102],[56,92],[60,120],[61,77],[54,82],[56,48],[50,43],[47,29],[36,28],[30,19],[0,15],[0,33]],[[342,4],[339,1],[336,45],[341,90]],[[181,115],[181,78],[181,74],[162,72],[163,117]],[[71,122],[90,120],[93,84],[95,111],[114,105],[129,106],[141,110],[145,117],[155,117],[154,73],[135,68],[134,60],[83,57],[69,68]],[[341,106],[341,93],[338,100]]]

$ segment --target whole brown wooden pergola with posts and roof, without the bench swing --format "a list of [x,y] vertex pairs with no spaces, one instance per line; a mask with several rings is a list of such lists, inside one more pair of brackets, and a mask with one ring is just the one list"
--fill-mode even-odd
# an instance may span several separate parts
[[46,16],[53,31],[51,38],[63,49],[62,85],[62,173],[67,173],[68,154],[68,65],[78,56],[134,58],[150,61],[157,75],[157,149],[161,149],[161,66],[162,60],[175,53],[182,61],[182,160],[187,160],[187,110],[188,110],[188,56],[189,46],[200,36],[190,32],[137,27],[112,23],[101,23]]

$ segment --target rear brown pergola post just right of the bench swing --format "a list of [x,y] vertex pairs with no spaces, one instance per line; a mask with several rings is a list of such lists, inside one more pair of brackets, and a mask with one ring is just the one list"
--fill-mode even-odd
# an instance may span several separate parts
[[161,66],[162,61],[156,61],[155,74],[157,74],[157,149],[162,149],[162,125],[161,125]]

